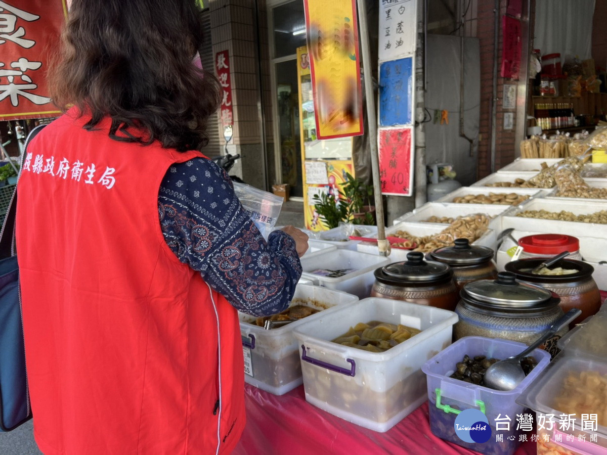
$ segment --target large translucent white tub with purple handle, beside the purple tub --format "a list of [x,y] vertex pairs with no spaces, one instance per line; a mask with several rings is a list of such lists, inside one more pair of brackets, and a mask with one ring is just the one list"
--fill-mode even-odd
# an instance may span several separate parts
[[[384,432],[426,401],[421,366],[451,343],[452,311],[365,298],[331,308],[293,331],[302,358],[306,400],[337,417]],[[333,343],[350,327],[371,321],[421,329],[385,352]]]

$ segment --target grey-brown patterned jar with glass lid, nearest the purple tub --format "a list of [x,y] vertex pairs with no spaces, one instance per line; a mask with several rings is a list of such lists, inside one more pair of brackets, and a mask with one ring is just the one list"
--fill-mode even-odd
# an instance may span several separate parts
[[[513,340],[527,345],[563,315],[557,295],[540,286],[520,283],[512,272],[500,272],[496,280],[467,283],[459,293],[455,309],[459,316],[453,326],[456,340],[469,335]],[[568,332],[561,329],[544,349],[556,351],[558,338]]]

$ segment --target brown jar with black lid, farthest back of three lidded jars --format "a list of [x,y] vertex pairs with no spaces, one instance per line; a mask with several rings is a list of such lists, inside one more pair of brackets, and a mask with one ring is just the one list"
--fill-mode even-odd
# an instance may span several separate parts
[[429,258],[451,267],[458,290],[470,281],[497,278],[492,249],[470,245],[467,238],[456,238],[454,243],[453,246],[435,249],[429,254]]

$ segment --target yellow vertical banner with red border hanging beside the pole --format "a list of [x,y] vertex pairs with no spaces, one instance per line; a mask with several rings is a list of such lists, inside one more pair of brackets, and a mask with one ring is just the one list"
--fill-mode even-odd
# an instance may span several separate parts
[[363,133],[356,0],[304,0],[317,137]]

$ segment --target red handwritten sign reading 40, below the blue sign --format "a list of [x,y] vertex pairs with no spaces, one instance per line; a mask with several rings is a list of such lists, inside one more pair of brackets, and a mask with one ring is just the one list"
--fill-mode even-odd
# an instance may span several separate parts
[[379,175],[382,194],[412,194],[412,144],[411,127],[379,129]]

